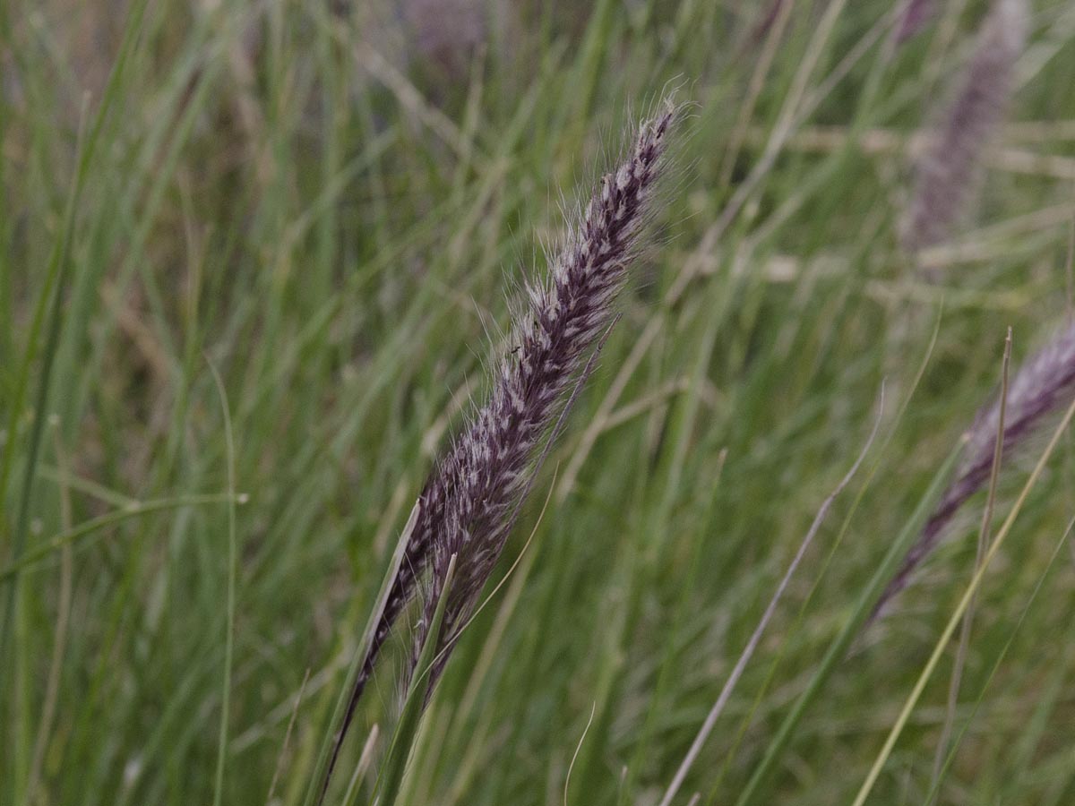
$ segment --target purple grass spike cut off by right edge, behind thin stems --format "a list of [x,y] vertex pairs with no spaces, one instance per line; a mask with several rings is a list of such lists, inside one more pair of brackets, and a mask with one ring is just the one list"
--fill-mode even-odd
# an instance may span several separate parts
[[[1017,448],[1036,427],[1071,402],[1075,394],[1075,326],[1029,359],[1012,380],[1007,392],[1004,420],[1003,450]],[[892,578],[874,608],[874,617],[911,581],[915,570],[941,542],[947,526],[959,508],[989,478],[997,431],[1000,424],[1001,402],[993,402],[978,413],[968,433],[968,444],[956,480],[949,485],[918,541],[907,552],[899,573]]]

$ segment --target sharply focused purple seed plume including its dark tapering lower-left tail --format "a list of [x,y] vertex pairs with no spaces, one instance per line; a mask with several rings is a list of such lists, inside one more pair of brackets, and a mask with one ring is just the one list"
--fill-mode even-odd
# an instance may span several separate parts
[[[435,462],[412,516],[402,561],[358,666],[320,782],[332,771],[355,709],[392,625],[421,591],[422,608],[406,678],[432,692],[505,541],[562,417],[615,325],[617,293],[637,257],[664,173],[668,138],[682,115],[671,99],[641,123],[630,150],[603,175],[512,316],[508,344],[484,405]],[[445,584],[453,570],[450,590]],[[440,629],[432,631],[436,623]],[[419,668],[427,645],[430,668]]]

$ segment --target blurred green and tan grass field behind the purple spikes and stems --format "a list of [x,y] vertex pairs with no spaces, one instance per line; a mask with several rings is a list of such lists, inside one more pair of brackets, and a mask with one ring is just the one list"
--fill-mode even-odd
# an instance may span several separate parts
[[[887,0],[798,0],[783,30],[731,0],[334,5],[0,4],[0,803],[263,804],[277,769],[273,802],[301,802],[506,298],[668,86],[691,114],[654,245],[400,803],[655,804],[886,378],[877,441],[675,801],[734,803],[994,393],[1006,328],[1018,365],[1070,315],[1075,6],[1034,1],[975,212],[915,265],[901,144],[984,2],[940,3],[899,48]],[[998,522],[1040,454],[1005,458]],[[1075,802],[1073,474],[1065,442],[979,591],[942,803]],[[852,800],[966,589],[983,503],[752,803]],[[370,797],[402,656],[330,802],[377,725]],[[954,656],[870,803],[926,802]]]

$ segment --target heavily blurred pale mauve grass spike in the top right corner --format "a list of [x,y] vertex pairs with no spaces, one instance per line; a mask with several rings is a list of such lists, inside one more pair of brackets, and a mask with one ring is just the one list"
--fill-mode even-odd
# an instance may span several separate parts
[[1026,0],[995,0],[950,105],[918,163],[903,225],[903,246],[941,243],[962,217],[981,175],[981,155],[1015,87],[1015,63],[1027,38]]

